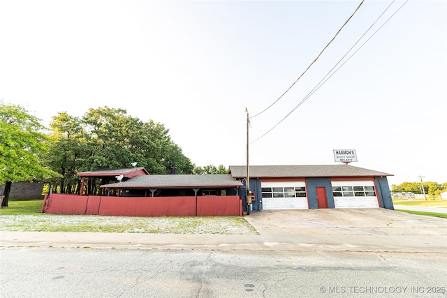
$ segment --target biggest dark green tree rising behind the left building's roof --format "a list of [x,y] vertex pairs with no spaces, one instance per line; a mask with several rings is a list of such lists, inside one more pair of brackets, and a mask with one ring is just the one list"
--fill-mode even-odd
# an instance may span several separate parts
[[191,174],[193,165],[171,140],[163,124],[143,123],[126,110],[89,109],[83,120],[87,131],[88,156],[82,170],[129,167],[137,162],[151,174],[168,174],[177,165],[179,174]]

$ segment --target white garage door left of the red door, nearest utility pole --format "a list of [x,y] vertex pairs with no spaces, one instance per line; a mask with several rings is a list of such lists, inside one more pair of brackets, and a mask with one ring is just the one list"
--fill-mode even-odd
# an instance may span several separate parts
[[262,182],[263,209],[309,209],[306,183]]

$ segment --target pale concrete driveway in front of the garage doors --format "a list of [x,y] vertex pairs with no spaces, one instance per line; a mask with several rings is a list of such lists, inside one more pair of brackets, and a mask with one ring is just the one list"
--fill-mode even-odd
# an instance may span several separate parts
[[373,209],[263,210],[245,216],[261,234],[439,234],[447,219]]

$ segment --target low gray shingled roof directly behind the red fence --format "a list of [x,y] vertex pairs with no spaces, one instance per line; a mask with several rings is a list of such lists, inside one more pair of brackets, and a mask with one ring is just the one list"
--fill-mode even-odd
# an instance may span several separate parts
[[108,188],[181,188],[237,187],[242,183],[230,174],[165,174],[139,175],[121,183],[102,185]]

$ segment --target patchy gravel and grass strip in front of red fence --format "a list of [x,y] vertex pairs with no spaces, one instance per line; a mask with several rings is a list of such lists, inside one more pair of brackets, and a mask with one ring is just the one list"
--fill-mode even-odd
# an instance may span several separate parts
[[123,232],[153,234],[258,234],[243,217],[126,217],[82,215],[1,215],[0,231]]

